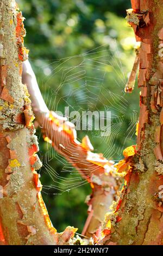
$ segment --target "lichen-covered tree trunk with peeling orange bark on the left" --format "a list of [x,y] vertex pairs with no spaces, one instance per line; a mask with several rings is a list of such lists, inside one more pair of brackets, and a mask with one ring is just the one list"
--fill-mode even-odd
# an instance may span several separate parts
[[58,234],[41,197],[33,113],[27,88],[21,82],[23,18],[14,0],[0,1],[0,240],[5,245],[66,243],[76,229]]

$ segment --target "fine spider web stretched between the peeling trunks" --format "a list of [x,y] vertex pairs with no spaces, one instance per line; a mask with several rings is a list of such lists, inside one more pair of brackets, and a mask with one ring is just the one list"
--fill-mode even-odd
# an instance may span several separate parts
[[[111,112],[109,136],[101,136],[100,130],[89,130],[87,124],[87,130],[78,131],[78,138],[88,135],[95,152],[103,153],[106,159],[113,161],[122,158],[124,148],[135,144],[137,122],[137,109],[130,109],[129,97],[124,93],[127,81],[119,54],[118,50],[111,53],[105,46],[101,46],[84,54],[55,60],[42,67],[51,70],[47,80],[43,81],[44,86],[50,81],[54,83],[48,89],[45,99],[49,109],[64,112],[64,107],[68,107],[70,113],[78,111],[80,114],[82,111]],[[80,123],[83,121],[81,116]],[[72,157],[77,161],[78,156],[75,153]],[[61,171],[52,167],[55,166],[53,161],[60,162]],[[49,144],[43,155],[42,169],[52,179],[51,185],[43,186],[45,193],[62,194],[87,183]]]

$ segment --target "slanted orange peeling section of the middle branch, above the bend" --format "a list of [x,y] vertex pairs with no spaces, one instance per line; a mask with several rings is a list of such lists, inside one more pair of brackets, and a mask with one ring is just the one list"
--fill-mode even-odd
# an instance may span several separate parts
[[[66,157],[88,181],[90,181],[91,173],[102,174],[110,171],[114,172],[111,161],[106,160],[102,154],[95,154],[89,150],[91,146],[88,143],[88,138],[86,139],[87,145],[85,144],[87,149],[85,149],[82,143],[77,141],[73,129],[67,126],[66,123],[59,123],[58,118],[55,118],[53,113],[46,115],[41,120],[40,125],[43,127],[42,133],[45,140],[51,142],[55,150]],[[86,141],[84,139],[84,143]],[[74,157],[74,155],[77,155],[77,157]]]

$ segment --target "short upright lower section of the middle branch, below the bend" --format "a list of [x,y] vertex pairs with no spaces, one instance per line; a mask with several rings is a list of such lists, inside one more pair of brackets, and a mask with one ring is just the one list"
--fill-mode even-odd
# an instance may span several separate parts
[[[118,178],[118,177],[117,177]],[[98,237],[99,228],[102,225],[104,216],[109,210],[109,206],[112,203],[112,199],[116,198],[116,190],[120,186],[121,181],[116,181],[111,175],[91,175],[91,188],[92,194],[87,200],[88,217],[83,229],[82,234],[91,237],[95,235]]]

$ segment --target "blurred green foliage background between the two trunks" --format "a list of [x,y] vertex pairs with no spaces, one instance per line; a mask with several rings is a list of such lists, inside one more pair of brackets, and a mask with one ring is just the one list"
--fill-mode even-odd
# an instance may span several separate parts
[[[29,60],[50,109],[63,111],[68,103],[72,110],[78,110],[78,108],[91,110],[91,103],[95,100],[97,101],[96,109],[106,110],[105,107],[110,104],[113,106],[112,111],[116,114],[114,104],[120,108],[126,104],[123,108],[123,124],[116,133],[111,152],[107,151],[107,141],[102,141],[96,133],[89,133],[93,147],[98,153],[104,153],[105,157],[112,160],[121,159],[123,148],[135,143],[135,133],[132,131],[132,136],[126,138],[126,131],[132,122],[135,129],[139,111],[139,92],[136,88],[132,94],[123,96],[125,80],[135,56],[134,33],[125,20],[126,9],[131,8],[130,1],[18,0],[17,2],[26,18],[24,25],[27,36],[24,41],[30,50]],[[79,66],[83,60],[84,64]],[[76,72],[85,70],[87,76],[97,78],[96,81],[98,79],[102,81],[103,84],[99,87],[93,86],[90,82],[89,89],[92,88],[90,105],[89,102],[82,103],[81,100],[80,104],[76,103],[79,103],[84,93],[82,89],[78,90],[83,88],[83,78],[78,81],[70,79],[62,82],[63,70],[70,66],[72,67],[70,78],[75,78]],[[76,68],[73,69],[73,67]],[[60,84],[61,87],[57,90]],[[74,89],[79,99],[71,95]],[[114,92],[116,97],[108,101],[107,92],[110,91]],[[94,98],[91,95],[94,95]],[[133,120],[134,113],[136,114]],[[78,138],[81,139],[85,134],[87,131],[79,131]],[[40,157],[45,161],[49,148],[43,142],[39,129],[37,135],[40,143]],[[51,157],[48,164],[52,172],[54,170],[61,177],[71,178],[71,172],[62,172],[65,161],[60,157]],[[59,191],[56,186],[53,186],[55,180],[49,175],[45,165],[40,172],[42,184],[45,187],[52,186],[51,190],[43,190],[42,195],[54,227],[62,231],[67,225],[73,225],[79,228],[80,233],[87,217],[87,205],[84,201],[87,194],[91,192],[90,185],[76,186],[66,191],[64,190],[65,181],[62,184],[60,179],[59,187],[63,190]]]

